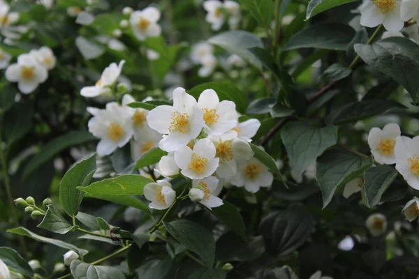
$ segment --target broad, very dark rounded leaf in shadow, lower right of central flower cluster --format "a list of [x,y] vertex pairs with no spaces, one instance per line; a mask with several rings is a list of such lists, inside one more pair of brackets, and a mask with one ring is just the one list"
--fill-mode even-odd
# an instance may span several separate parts
[[310,236],[313,225],[313,217],[305,206],[291,206],[264,218],[259,230],[266,252],[284,256],[302,246]]

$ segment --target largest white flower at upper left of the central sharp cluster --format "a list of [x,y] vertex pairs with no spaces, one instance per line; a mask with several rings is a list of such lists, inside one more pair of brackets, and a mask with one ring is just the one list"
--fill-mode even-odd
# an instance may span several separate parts
[[167,152],[196,139],[205,124],[203,111],[198,108],[195,98],[181,87],[173,91],[173,106],[154,108],[147,115],[147,123],[153,130],[168,135],[160,144]]

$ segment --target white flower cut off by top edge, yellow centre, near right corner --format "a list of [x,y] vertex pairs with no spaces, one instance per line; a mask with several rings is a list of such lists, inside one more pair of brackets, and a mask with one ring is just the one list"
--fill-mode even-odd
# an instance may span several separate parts
[[400,31],[404,21],[400,18],[401,0],[364,0],[360,6],[361,25],[376,27],[383,24],[388,31]]

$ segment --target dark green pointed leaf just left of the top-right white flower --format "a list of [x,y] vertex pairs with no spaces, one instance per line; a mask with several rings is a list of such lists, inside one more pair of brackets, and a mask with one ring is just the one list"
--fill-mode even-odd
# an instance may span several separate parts
[[346,50],[353,36],[355,36],[355,30],[346,24],[316,24],[292,36],[282,50],[297,50],[307,47],[323,50]]

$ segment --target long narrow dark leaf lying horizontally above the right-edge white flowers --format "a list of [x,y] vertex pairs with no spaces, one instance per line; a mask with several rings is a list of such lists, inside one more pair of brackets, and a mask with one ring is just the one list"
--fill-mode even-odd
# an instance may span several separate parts
[[361,100],[359,102],[348,103],[343,107],[332,110],[326,117],[328,124],[342,124],[366,119],[377,114],[383,114],[395,108],[405,108],[393,100]]

